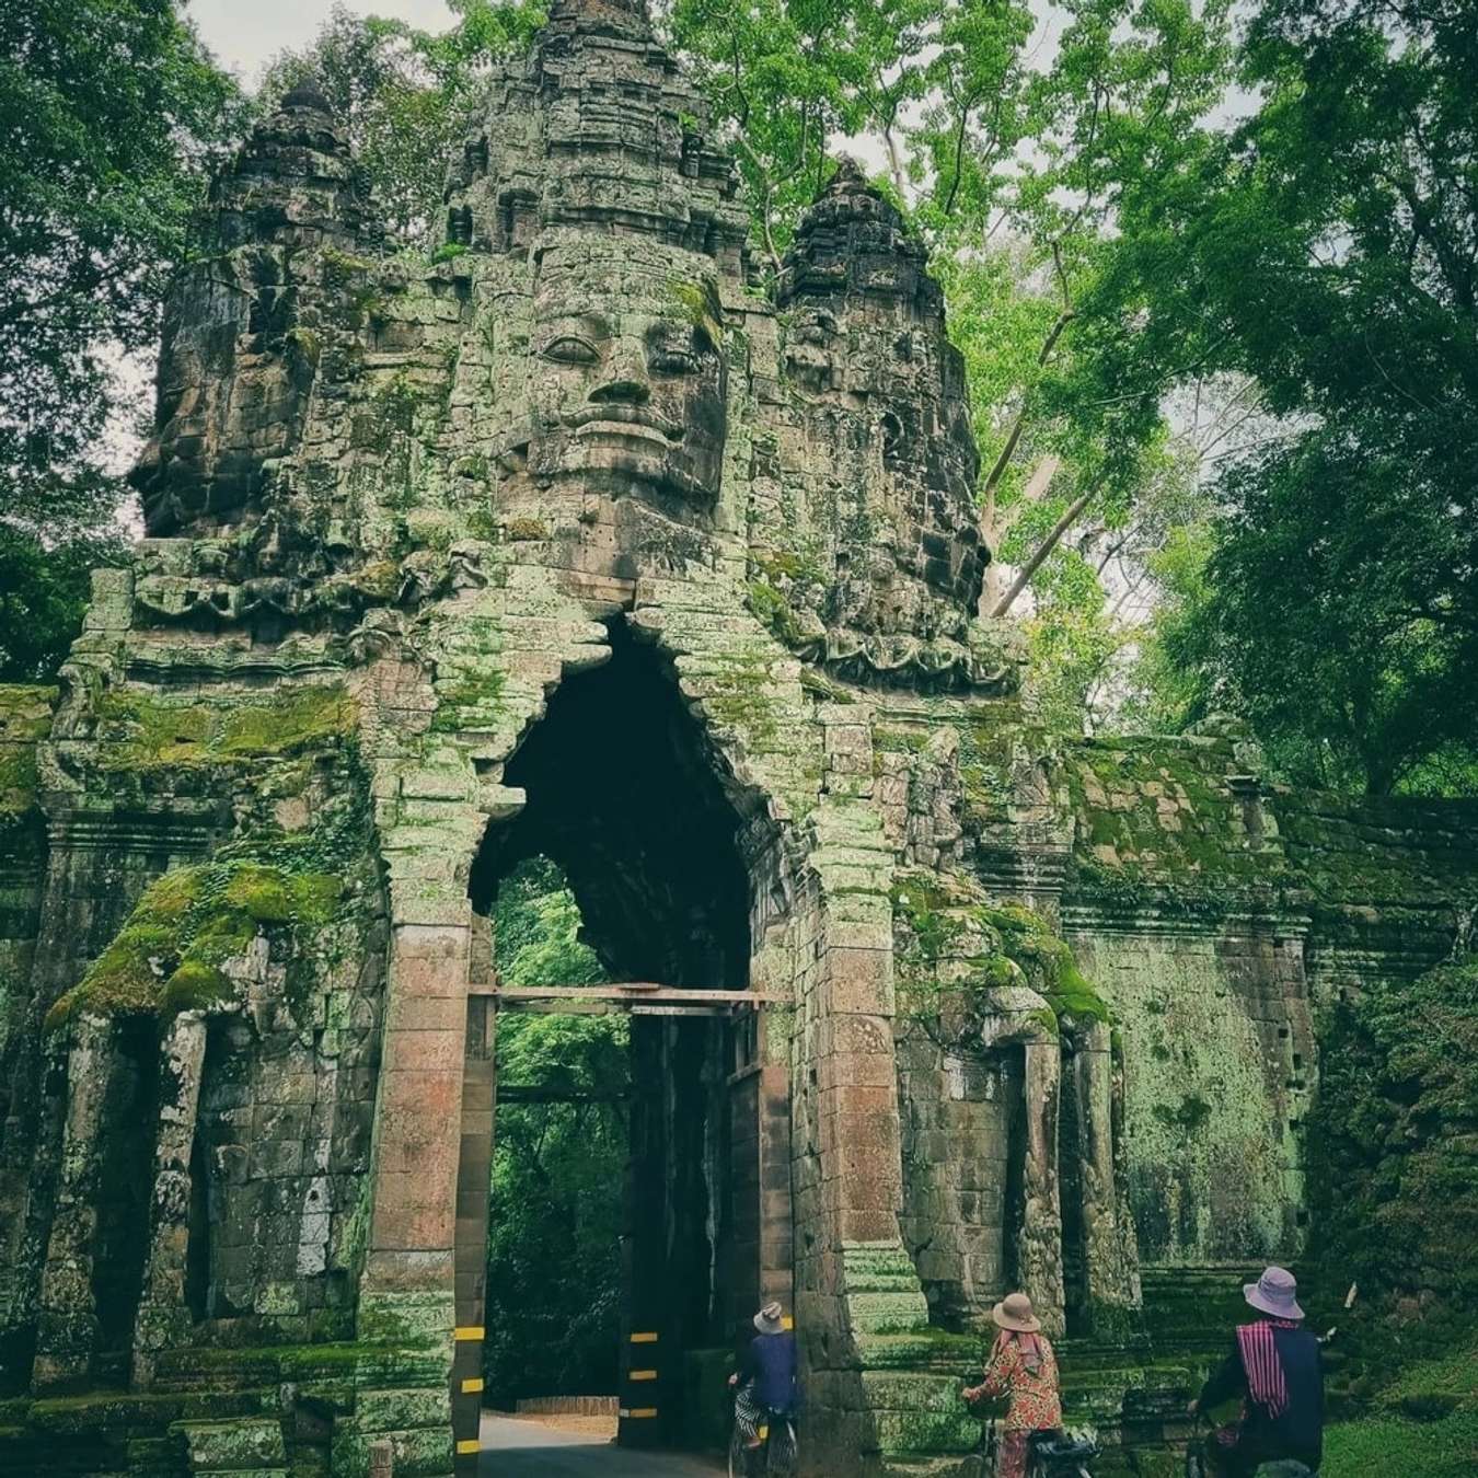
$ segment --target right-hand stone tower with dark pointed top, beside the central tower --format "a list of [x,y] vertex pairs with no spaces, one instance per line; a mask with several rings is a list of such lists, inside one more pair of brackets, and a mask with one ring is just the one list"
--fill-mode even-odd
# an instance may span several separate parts
[[776,296],[814,436],[851,423],[832,433],[838,455],[862,449],[844,477],[862,500],[856,516],[823,520],[813,539],[837,566],[817,610],[828,653],[891,681],[977,681],[968,618],[989,551],[964,361],[924,244],[854,161],[803,214]]

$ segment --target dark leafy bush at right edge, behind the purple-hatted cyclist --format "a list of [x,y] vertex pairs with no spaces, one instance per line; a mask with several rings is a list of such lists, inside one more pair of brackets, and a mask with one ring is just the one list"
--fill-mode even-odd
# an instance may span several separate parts
[[1330,1284],[1478,1310],[1478,961],[1335,1007],[1320,1064],[1307,1163]]

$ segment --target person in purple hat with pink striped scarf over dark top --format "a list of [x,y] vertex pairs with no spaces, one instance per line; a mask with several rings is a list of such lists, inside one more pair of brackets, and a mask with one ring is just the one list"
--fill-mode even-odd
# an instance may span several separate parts
[[1287,1268],[1265,1268],[1242,1286],[1258,1314],[1237,1326],[1231,1352],[1210,1373],[1191,1414],[1242,1398],[1242,1416],[1206,1444],[1212,1471],[1246,1478],[1261,1463],[1302,1463],[1318,1472],[1324,1451],[1324,1363],[1317,1335],[1304,1327],[1298,1283]]

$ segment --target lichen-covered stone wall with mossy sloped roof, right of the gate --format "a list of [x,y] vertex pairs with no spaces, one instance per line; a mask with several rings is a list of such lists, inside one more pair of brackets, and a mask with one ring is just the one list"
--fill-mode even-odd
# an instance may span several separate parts
[[1064,936],[1122,1033],[1151,1304],[1157,1265],[1298,1256],[1315,1009],[1445,958],[1478,893],[1478,808],[1293,792],[1258,763],[1236,733],[1097,740],[1054,776]]

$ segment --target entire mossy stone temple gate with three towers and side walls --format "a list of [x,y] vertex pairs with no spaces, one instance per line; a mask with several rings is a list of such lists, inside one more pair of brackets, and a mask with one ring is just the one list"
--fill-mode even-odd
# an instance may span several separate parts
[[1315,1008],[1445,956],[1472,813],[1041,733],[921,245],[842,166],[766,288],[704,117],[640,0],[556,0],[430,262],[310,89],[216,183],[148,537],[0,690],[6,1472],[473,1469],[535,851],[664,987],[607,992],[630,1438],[779,1296],[808,1471],[978,1474],[1024,1286],[1150,1471],[1212,1292],[1298,1259]]

